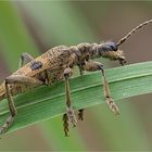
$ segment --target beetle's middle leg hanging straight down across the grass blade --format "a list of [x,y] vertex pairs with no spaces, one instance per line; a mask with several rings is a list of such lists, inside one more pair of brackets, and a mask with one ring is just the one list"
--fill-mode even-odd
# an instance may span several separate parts
[[64,71],[64,78],[65,78],[65,92],[66,92],[66,114],[64,114],[64,131],[65,131],[65,136],[67,136],[67,131],[68,131],[68,125],[66,122],[68,122],[68,118],[71,121],[71,123],[73,124],[73,126],[76,126],[76,117],[74,114],[74,110],[71,105],[71,92],[69,92],[69,77],[72,76],[73,71],[72,68],[65,68]]

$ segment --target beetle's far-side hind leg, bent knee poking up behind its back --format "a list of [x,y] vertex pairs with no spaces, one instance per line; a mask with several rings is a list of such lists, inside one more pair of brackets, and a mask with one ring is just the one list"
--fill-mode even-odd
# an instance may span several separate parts
[[23,53],[20,58],[20,64],[18,64],[18,67],[22,67],[23,65],[25,65],[26,63],[33,61],[34,58],[28,54],[28,53]]

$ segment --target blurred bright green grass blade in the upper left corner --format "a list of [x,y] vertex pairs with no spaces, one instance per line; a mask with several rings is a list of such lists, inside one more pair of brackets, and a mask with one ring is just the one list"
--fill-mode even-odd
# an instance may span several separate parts
[[[21,53],[38,54],[38,48],[28,34],[13,3],[0,2],[0,51],[11,69],[16,69]],[[13,63],[13,64],[12,64]]]

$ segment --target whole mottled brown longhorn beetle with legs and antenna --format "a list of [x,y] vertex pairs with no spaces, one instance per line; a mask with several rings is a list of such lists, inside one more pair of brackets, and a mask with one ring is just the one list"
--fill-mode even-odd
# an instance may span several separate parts
[[[11,76],[7,77],[0,86],[0,100],[5,98],[8,99],[11,114],[0,128],[0,134],[8,130],[17,115],[13,96],[26,91],[29,87],[34,88],[41,85],[51,85],[56,81],[65,80],[66,113],[63,115],[63,126],[65,136],[68,136],[68,121],[74,127],[77,124],[76,116],[71,104],[69,93],[69,77],[73,75],[73,67],[75,65],[79,67],[80,75],[83,75],[84,71],[101,71],[105,101],[114,114],[118,114],[118,107],[111,97],[103,64],[91,60],[102,56],[110,60],[117,60],[122,65],[124,65],[126,63],[126,59],[118,47],[134,33],[149,23],[152,23],[152,20],[138,25],[117,43],[106,41],[99,45],[84,42],[71,47],[59,46],[48,50],[46,53],[36,59],[28,53],[23,53],[21,55],[20,68]],[[78,119],[83,121],[83,118],[84,110],[79,110]]]

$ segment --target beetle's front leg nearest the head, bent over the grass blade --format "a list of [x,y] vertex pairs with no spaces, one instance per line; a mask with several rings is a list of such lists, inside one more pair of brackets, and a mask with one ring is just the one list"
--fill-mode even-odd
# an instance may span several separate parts
[[107,84],[106,76],[105,76],[104,68],[103,68],[103,64],[101,64],[100,62],[86,62],[83,65],[83,68],[84,68],[84,71],[90,71],[90,72],[93,72],[93,71],[102,72],[104,97],[105,97],[106,103],[110,105],[110,109],[114,112],[114,114],[119,114],[119,110],[111,97],[109,84]]

